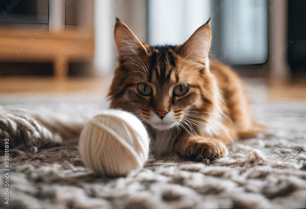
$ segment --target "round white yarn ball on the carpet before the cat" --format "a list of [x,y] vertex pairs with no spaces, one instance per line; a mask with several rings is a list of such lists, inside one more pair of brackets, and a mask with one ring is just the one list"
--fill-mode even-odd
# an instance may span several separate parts
[[149,155],[150,138],[141,121],[123,110],[105,110],[80,134],[80,155],[97,174],[134,176]]

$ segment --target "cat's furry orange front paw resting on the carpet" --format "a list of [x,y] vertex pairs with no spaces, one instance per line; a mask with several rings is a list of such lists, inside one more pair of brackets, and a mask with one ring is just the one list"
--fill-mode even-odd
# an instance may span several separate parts
[[227,153],[227,148],[221,141],[201,137],[189,139],[181,149],[182,157],[191,160],[216,160],[225,157]]

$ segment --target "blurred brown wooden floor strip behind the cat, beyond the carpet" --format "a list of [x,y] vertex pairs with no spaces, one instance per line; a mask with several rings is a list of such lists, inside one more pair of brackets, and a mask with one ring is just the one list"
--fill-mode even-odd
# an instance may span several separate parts
[[[112,75],[56,79],[54,77],[1,77],[0,99],[3,95],[21,95],[35,90],[35,94],[75,94],[86,91],[87,95],[106,95]],[[243,78],[253,102],[266,97],[268,101],[277,101],[289,97],[294,100],[306,100],[305,77],[296,78],[289,83],[268,84],[258,78]],[[253,99],[252,99],[253,98]]]

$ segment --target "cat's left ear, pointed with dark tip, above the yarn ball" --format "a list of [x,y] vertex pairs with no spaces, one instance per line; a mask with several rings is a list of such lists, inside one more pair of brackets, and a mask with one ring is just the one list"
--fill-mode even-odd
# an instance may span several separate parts
[[136,35],[116,17],[114,37],[118,49],[119,58],[127,59],[139,55],[147,55],[144,44]]

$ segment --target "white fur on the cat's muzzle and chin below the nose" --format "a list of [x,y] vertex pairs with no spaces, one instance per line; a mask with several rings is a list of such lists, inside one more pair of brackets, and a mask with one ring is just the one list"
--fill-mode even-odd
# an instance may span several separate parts
[[167,114],[165,114],[165,117],[162,119],[159,118],[156,113],[152,112],[151,118],[147,122],[155,129],[167,130],[175,125],[176,120],[172,111],[169,111]]

